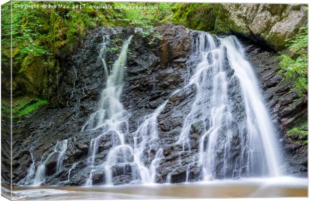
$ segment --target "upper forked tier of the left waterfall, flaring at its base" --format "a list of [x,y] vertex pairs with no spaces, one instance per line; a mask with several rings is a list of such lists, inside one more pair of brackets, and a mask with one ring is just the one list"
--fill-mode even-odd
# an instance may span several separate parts
[[100,55],[104,66],[104,71],[106,72],[107,80],[106,87],[101,93],[101,98],[99,101],[99,109],[91,114],[89,120],[82,127],[83,130],[96,130],[98,128],[103,128],[105,130],[115,130],[121,137],[121,126],[127,124],[128,112],[124,110],[122,103],[120,102],[120,97],[123,87],[123,76],[124,68],[126,65],[126,51],[129,42],[132,38],[129,37],[123,44],[119,57],[112,65],[112,70],[108,71],[105,62],[105,51],[108,42],[105,40],[108,37],[104,37],[104,42],[101,44]]

